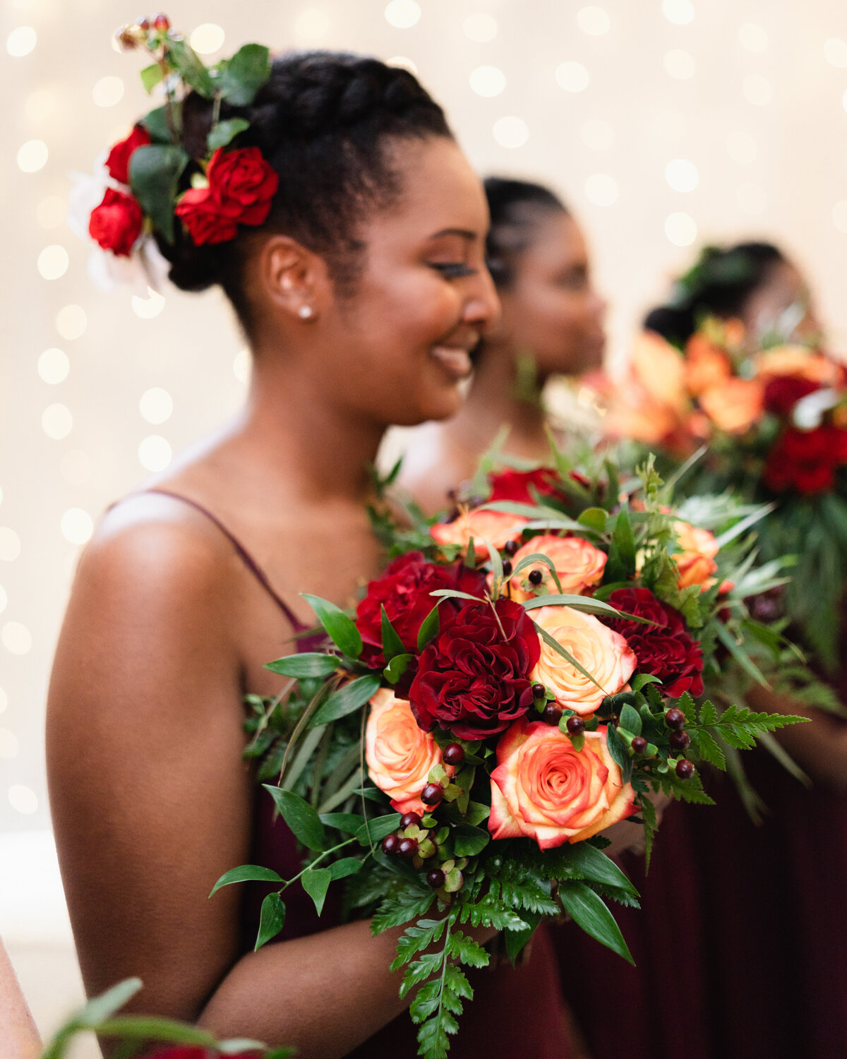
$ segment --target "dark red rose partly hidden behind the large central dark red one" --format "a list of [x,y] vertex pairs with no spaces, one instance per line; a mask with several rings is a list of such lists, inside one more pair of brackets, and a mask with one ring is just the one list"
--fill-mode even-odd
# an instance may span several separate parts
[[[376,668],[385,665],[382,653],[382,607],[403,647],[417,654],[417,634],[427,614],[438,602],[430,593],[455,589],[482,598],[487,588],[485,574],[462,562],[437,566],[422,552],[408,552],[394,559],[382,577],[371,581],[367,593],[356,608],[356,625],[364,644],[362,661]],[[438,609],[444,629],[464,606],[462,599],[445,599]]]

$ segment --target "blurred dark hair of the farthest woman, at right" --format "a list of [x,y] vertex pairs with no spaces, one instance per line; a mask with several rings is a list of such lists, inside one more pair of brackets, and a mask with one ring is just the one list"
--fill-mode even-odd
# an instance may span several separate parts
[[677,281],[668,303],[648,312],[644,325],[682,344],[697,330],[702,317],[741,315],[751,294],[763,287],[774,268],[785,261],[771,243],[705,247],[697,264]]

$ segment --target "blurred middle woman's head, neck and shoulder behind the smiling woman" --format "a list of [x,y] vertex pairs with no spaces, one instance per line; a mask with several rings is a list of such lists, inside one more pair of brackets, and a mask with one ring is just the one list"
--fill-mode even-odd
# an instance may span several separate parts
[[606,303],[592,283],[584,235],[561,200],[540,184],[500,177],[489,177],[485,191],[486,257],[502,316],[476,349],[458,414],[411,433],[400,481],[428,514],[473,477],[504,426],[505,453],[547,462],[544,384],[598,367],[606,345]]

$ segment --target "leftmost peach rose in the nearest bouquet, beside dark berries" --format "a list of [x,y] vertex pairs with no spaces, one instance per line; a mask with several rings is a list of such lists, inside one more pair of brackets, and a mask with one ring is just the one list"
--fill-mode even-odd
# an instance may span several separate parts
[[[371,699],[364,746],[371,779],[397,812],[427,812],[420,792],[430,769],[440,762],[441,751],[430,733],[418,728],[409,703],[388,687],[380,687]],[[445,768],[453,774],[452,766]]]

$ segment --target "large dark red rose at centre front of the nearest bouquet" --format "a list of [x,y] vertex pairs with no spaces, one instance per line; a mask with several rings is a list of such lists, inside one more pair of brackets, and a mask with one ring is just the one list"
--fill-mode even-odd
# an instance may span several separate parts
[[[440,724],[459,739],[503,732],[533,704],[529,672],[540,646],[524,608],[471,603],[424,649],[409,702],[426,732]],[[505,635],[504,635],[505,633]]]

